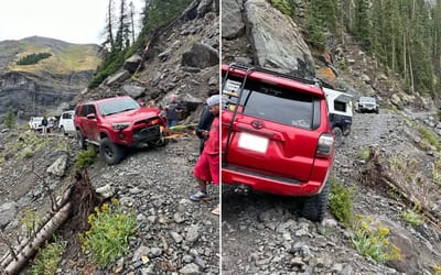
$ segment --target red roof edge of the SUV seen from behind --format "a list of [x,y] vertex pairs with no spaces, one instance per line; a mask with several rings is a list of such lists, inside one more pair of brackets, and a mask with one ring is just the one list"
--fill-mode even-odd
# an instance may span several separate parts
[[[223,64],[222,70],[226,72],[227,69],[228,69],[228,65]],[[232,68],[229,68],[228,74],[230,74],[233,76],[237,76],[237,77],[245,77],[247,72],[244,69],[232,67]],[[251,73],[248,74],[247,77],[252,80],[258,80],[261,82],[272,84],[272,85],[277,85],[277,86],[283,86],[287,88],[300,89],[308,94],[312,94],[314,96],[324,98],[324,92],[320,87],[316,87],[314,85],[303,84],[301,81],[290,79],[288,77],[281,76],[281,75],[277,75],[277,73],[275,73],[275,75],[272,75],[269,73],[252,70]]]

